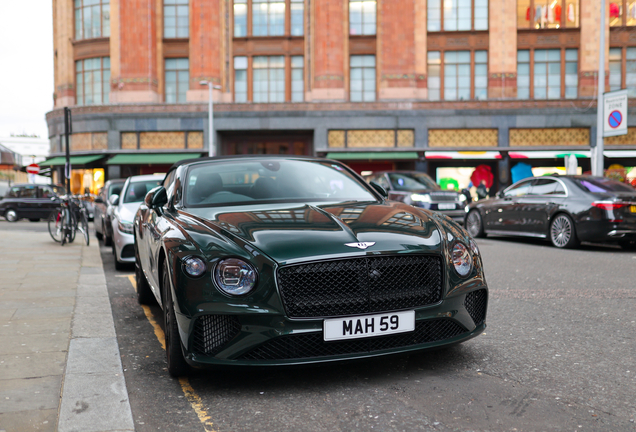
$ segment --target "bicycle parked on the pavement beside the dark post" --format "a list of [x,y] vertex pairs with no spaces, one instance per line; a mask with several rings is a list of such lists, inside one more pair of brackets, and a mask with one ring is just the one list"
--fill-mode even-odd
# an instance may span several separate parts
[[73,200],[67,195],[63,195],[60,198],[62,199],[60,207],[53,210],[48,219],[51,238],[64,246],[66,242],[72,243],[75,240],[77,231],[80,231],[84,236],[86,246],[88,246],[90,238],[88,234],[88,211],[86,207],[81,201]]

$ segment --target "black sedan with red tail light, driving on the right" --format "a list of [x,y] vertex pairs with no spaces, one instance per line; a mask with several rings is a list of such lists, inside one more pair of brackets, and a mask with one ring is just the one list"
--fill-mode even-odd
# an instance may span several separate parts
[[472,203],[466,229],[549,238],[558,248],[579,242],[636,244],[636,190],[604,177],[544,176],[518,181],[495,198]]

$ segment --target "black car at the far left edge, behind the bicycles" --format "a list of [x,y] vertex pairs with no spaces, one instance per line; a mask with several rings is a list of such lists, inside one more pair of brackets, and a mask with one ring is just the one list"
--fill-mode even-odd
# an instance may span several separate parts
[[17,222],[22,218],[33,222],[46,219],[59,205],[58,196],[65,193],[63,186],[16,184],[0,200],[0,214],[9,222]]

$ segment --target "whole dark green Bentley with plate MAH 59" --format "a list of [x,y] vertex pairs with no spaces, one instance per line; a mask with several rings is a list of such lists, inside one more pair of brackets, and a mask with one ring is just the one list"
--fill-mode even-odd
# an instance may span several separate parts
[[473,239],[386,196],[327,159],[175,164],[134,220],[137,296],[163,309],[170,374],[418,352],[483,332]]

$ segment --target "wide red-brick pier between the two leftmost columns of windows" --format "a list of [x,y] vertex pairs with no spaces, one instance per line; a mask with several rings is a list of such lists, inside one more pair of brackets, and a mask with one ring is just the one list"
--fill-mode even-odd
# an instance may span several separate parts
[[118,67],[111,65],[111,103],[159,102],[157,2],[120,0],[113,15],[117,29],[111,28],[111,54],[118,57]]

